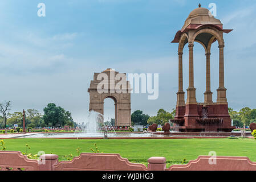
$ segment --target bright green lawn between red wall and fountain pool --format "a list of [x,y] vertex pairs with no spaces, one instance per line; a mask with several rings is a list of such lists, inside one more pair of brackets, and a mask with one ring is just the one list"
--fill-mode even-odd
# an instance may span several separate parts
[[26,152],[26,144],[31,149],[28,153],[58,154],[60,159],[64,155],[77,155],[76,148],[81,152],[92,152],[97,144],[99,151],[104,153],[118,153],[131,162],[147,164],[151,156],[164,156],[168,166],[197,159],[198,155],[208,155],[209,151],[216,151],[217,155],[247,156],[256,161],[255,139],[3,139],[7,150]]

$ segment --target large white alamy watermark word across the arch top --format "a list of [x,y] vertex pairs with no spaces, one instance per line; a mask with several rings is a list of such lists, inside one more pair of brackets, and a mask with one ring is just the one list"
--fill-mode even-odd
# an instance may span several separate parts
[[[159,73],[128,73],[128,81],[125,73],[117,73],[112,69],[109,73],[97,75],[98,93],[148,93],[148,100],[156,100],[159,97]],[[134,83],[134,84],[133,84]],[[141,86],[140,86],[141,84]],[[140,92],[141,91],[141,92]]]

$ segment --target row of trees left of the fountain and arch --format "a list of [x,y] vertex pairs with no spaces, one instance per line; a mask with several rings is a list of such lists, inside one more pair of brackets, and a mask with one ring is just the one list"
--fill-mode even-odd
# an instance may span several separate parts
[[[15,124],[18,127],[23,127],[23,113],[21,111],[15,111],[10,113],[11,102],[3,102],[0,104],[0,128],[14,127]],[[77,123],[74,122],[70,111],[64,110],[60,106],[56,106],[54,103],[48,104],[43,109],[44,114],[39,113],[36,109],[27,109],[25,111],[25,126],[31,128],[43,128],[43,127],[76,127]]]

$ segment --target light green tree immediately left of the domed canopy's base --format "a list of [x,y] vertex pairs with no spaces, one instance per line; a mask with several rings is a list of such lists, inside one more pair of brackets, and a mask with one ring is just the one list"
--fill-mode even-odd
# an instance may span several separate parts
[[165,111],[164,109],[159,109],[157,111],[157,115],[150,117],[148,119],[148,124],[152,125],[156,123],[157,125],[164,125],[164,123],[168,123],[169,119],[173,119],[175,115],[175,110],[173,109],[172,113]]

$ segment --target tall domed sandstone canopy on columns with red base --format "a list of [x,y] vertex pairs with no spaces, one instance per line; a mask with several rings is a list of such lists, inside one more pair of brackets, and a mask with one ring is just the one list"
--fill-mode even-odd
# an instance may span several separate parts
[[[184,26],[177,31],[172,43],[178,43],[178,92],[176,103],[176,115],[173,129],[178,126],[179,131],[201,132],[201,131],[231,131],[231,119],[228,113],[226,88],[224,86],[224,33],[231,29],[224,29],[220,20],[214,18],[208,9],[199,5],[185,20]],[[213,102],[210,87],[210,50],[214,42],[219,48],[219,86],[217,89],[217,102]],[[196,99],[196,88],[194,88],[194,42],[198,42],[205,50],[206,89],[204,102],[199,103]],[[182,54],[185,45],[189,49],[189,85],[186,89],[187,98],[183,89]],[[202,75],[203,76],[203,75]]]

